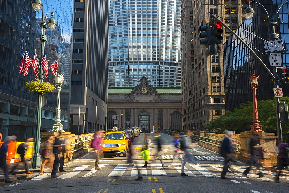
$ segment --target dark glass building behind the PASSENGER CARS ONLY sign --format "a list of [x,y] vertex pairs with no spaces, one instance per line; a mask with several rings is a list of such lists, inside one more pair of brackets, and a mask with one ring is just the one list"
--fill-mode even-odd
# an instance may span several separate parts
[[[275,16],[279,5],[286,1],[259,2],[264,5],[270,16]],[[253,18],[251,20],[245,20],[242,25],[240,25],[240,28],[237,29],[236,33],[251,46],[254,52],[257,53],[260,59],[262,59],[273,73],[273,68],[269,67],[268,55],[263,55],[263,53],[266,53],[263,42],[264,40],[267,40],[268,18],[262,8],[256,4],[251,4],[255,10]],[[287,48],[289,47],[288,8],[288,4],[283,5],[277,16],[277,22],[279,23],[279,38],[283,40]],[[250,50],[233,35],[223,44],[223,50],[226,110],[234,110],[234,108],[238,108],[240,104],[253,100],[252,87],[248,78],[253,74],[260,76],[259,84],[257,85],[257,100],[267,100],[273,97],[273,79],[260,62],[252,55]],[[283,67],[288,68],[289,53],[282,53],[282,56]],[[283,88],[283,96],[288,96],[288,85],[281,85],[279,88]]]

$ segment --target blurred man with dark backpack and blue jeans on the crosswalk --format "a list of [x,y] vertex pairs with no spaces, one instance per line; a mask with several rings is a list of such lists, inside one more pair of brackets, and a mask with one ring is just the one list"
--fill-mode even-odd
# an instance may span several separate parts
[[180,139],[180,148],[181,151],[184,152],[183,163],[181,165],[181,176],[188,176],[188,174],[185,173],[186,162],[194,163],[195,161],[194,155],[190,150],[192,149],[192,147],[197,147],[197,144],[192,143],[191,139],[192,135],[193,135],[192,131],[186,130],[184,132],[184,135],[182,135]]

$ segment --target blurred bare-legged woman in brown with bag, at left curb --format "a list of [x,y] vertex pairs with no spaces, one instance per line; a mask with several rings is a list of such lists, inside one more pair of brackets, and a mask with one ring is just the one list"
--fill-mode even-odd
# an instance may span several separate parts
[[53,144],[54,144],[55,136],[50,135],[48,136],[47,140],[42,144],[41,150],[40,150],[40,155],[43,159],[43,162],[40,167],[40,175],[45,175],[43,174],[43,168],[47,161],[49,160],[51,163],[54,162],[54,156],[53,156]]

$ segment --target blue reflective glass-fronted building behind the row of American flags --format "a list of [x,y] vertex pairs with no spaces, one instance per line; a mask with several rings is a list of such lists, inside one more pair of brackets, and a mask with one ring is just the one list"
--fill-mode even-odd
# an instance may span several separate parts
[[[68,129],[70,55],[72,30],[72,2],[69,0],[42,0],[44,12],[52,11],[58,26],[52,31],[46,30],[45,52],[50,65],[56,58],[58,73],[65,75],[61,90],[61,120],[64,129]],[[0,21],[0,132],[3,137],[18,136],[18,141],[34,136],[36,130],[36,100],[38,95],[26,91],[25,82],[34,80],[32,68],[29,75],[18,73],[22,53],[27,50],[32,58],[34,49],[41,60],[41,11],[35,12],[30,0],[1,0]],[[48,17],[51,17],[49,15]],[[49,71],[47,82],[55,83]],[[57,90],[44,95],[42,104],[42,131],[52,129],[55,120]]]

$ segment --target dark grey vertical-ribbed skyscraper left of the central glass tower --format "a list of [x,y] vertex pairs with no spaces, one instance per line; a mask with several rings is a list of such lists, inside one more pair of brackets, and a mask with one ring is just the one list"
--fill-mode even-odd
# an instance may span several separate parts
[[[105,129],[107,116],[108,0],[74,0],[71,130]],[[79,111],[80,106],[80,111]]]

